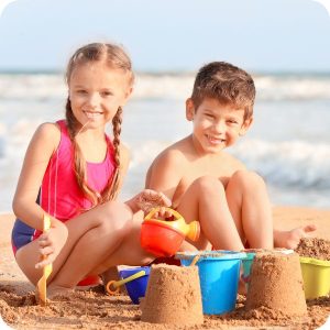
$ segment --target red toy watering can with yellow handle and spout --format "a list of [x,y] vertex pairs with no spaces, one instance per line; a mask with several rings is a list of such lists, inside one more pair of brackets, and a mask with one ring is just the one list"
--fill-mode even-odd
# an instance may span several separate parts
[[177,211],[166,208],[174,216],[174,220],[154,218],[160,208],[153,209],[142,222],[141,246],[156,256],[172,256],[182,245],[185,238],[197,241],[200,233],[198,221],[186,223]]

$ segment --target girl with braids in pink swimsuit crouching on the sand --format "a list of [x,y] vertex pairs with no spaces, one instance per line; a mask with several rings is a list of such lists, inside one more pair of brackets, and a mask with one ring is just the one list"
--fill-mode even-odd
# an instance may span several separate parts
[[[42,124],[28,147],[13,199],[20,220],[12,245],[34,285],[42,267],[53,263],[50,297],[110,266],[151,261],[139,244],[138,211],[169,201],[153,190],[116,201],[129,164],[120,132],[133,80],[121,47],[95,43],[79,48],[67,67],[66,120]],[[110,121],[113,141],[105,133]],[[42,234],[45,212],[52,224]],[[41,255],[47,257],[41,261]]]

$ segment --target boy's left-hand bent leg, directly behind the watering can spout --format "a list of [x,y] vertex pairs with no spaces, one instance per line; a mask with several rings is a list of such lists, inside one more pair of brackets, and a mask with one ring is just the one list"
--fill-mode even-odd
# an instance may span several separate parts
[[204,176],[195,180],[177,208],[186,221],[198,220],[201,227],[200,239],[193,243],[198,250],[240,251],[244,249],[235,222],[229,210],[226,191],[220,180]]

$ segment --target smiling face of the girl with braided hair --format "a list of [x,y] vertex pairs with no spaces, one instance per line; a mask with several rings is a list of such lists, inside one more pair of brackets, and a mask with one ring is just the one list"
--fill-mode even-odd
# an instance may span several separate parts
[[131,94],[128,74],[101,62],[77,65],[68,87],[75,118],[90,129],[103,129]]

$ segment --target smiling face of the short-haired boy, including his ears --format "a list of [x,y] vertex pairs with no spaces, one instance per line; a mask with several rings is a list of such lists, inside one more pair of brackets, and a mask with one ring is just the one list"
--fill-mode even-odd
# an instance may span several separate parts
[[244,121],[243,109],[223,106],[212,98],[205,98],[197,109],[188,99],[186,117],[193,121],[195,146],[202,153],[217,153],[233,145],[252,123],[252,118]]

